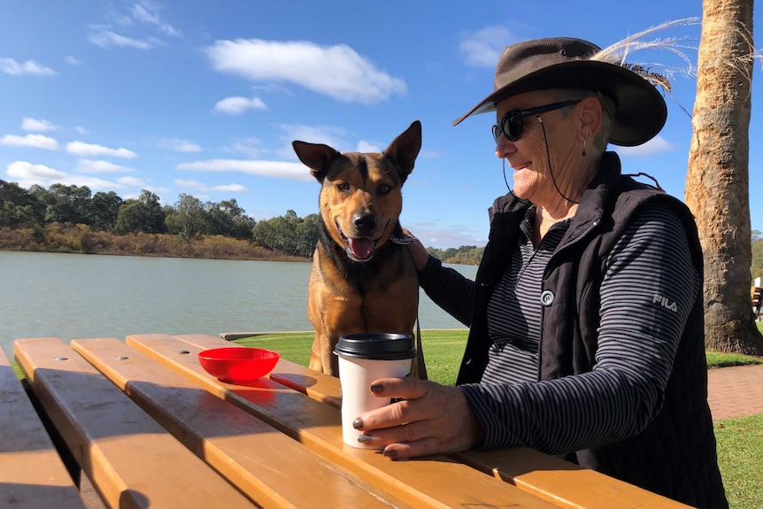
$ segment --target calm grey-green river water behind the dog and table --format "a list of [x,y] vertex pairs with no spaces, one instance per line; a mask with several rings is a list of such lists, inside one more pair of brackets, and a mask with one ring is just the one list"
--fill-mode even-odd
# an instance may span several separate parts
[[[312,330],[310,263],[0,251],[0,346],[20,337]],[[476,266],[453,266],[474,279]],[[422,328],[463,328],[420,291]]]

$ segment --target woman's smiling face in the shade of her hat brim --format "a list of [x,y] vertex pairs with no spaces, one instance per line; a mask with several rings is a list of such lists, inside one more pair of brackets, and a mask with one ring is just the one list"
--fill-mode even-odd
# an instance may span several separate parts
[[[559,98],[559,94],[551,96],[548,91],[543,90],[519,94],[497,104],[496,118],[499,122],[506,112],[536,108],[563,100],[566,98]],[[498,139],[496,155],[505,159],[513,168],[513,193],[517,197],[546,207],[564,200],[554,187],[551,171],[557,186],[566,196],[570,196],[567,193],[571,190],[576,190],[574,176],[578,172],[574,169],[575,161],[579,159],[574,157],[574,150],[577,150],[576,155],[580,156],[582,143],[578,141],[579,122],[578,128],[575,128],[575,115],[572,114],[574,108],[575,105],[570,105],[563,109],[540,113],[543,126],[538,121],[538,115],[529,115],[522,122],[521,135],[517,140],[511,142],[505,135]]]

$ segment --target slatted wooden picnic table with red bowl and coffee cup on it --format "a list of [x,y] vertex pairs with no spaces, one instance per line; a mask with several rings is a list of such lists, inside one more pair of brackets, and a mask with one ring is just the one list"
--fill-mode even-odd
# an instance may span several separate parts
[[[197,354],[232,345],[213,335],[30,338],[14,355],[51,436],[107,507],[686,507],[525,448],[393,461],[347,446],[338,378],[281,359],[257,381],[220,382]],[[26,409],[23,427],[0,434],[0,506],[82,507],[16,395],[0,400]]]

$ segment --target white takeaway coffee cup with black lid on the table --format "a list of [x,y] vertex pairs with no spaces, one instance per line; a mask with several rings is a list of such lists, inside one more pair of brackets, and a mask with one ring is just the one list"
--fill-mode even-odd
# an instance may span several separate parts
[[342,386],[342,436],[344,443],[360,449],[381,449],[358,442],[352,422],[361,413],[389,405],[389,398],[375,397],[371,382],[380,378],[403,378],[411,373],[416,348],[412,335],[362,333],[343,335],[334,353],[339,357]]

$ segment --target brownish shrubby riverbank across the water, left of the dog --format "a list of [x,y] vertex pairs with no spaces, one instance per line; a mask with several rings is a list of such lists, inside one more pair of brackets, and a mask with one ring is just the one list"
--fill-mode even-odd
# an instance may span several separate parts
[[85,225],[52,223],[44,228],[0,228],[0,251],[148,256],[166,258],[212,258],[258,261],[309,261],[287,256],[249,241],[223,235],[198,235],[184,240],[179,235],[143,232],[114,235]]

